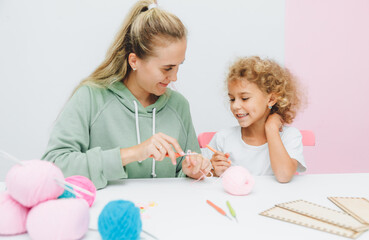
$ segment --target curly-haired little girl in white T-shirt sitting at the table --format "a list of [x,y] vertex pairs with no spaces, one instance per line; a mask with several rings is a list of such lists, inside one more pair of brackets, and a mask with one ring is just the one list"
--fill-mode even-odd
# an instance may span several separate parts
[[[292,123],[300,105],[295,79],[272,60],[247,57],[236,61],[226,80],[230,109],[239,126],[217,132],[210,142],[216,176],[231,162],[253,175],[274,174],[289,182],[306,170],[302,136]],[[231,160],[231,161],[229,161]]]

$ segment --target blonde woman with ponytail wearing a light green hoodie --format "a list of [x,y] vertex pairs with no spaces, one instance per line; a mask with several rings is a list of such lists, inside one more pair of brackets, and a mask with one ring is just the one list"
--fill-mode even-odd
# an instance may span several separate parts
[[187,100],[167,88],[185,60],[186,34],[155,1],[138,1],[105,60],[61,112],[43,159],[97,188],[121,178],[209,173],[208,159],[183,156],[200,148]]

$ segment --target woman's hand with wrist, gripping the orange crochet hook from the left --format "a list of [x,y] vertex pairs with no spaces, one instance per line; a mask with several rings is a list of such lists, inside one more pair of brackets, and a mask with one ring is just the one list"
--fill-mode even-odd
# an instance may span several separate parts
[[130,148],[122,148],[120,150],[122,164],[125,166],[128,163],[142,161],[150,157],[157,161],[162,161],[166,157],[166,154],[168,154],[173,165],[176,165],[177,160],[172,146],[175,151],[184,155],[182,148],[175,138],[164,133],[157,133],[141,144]]

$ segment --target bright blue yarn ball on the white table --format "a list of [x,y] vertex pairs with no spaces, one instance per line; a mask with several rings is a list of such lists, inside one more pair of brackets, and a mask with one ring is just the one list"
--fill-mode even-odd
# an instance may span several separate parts
[[99,215],[98,228],[104,240],[140,239],[142,231],[140,209],[131,201],[111,201]]

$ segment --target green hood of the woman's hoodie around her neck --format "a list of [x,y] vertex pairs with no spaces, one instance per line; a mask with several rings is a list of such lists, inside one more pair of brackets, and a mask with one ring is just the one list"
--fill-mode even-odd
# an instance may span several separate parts
[[156,112],[160,112],[165,105],[168,103],[170,95],[172,94],[172,90],[167,88],[165,93],[159,96],[158,100],[150,106],[144,108],[142,104],[137,100],[137,98],[129,91],[129,89],[124,85],[121,81],[113,83],[108,87],[110,91],[112,91],[122,104],[129,109],[132,113],[135,112],[134,101],[137,102],[138,113],[144,115],[152,115],[153,109],[156,109]]

